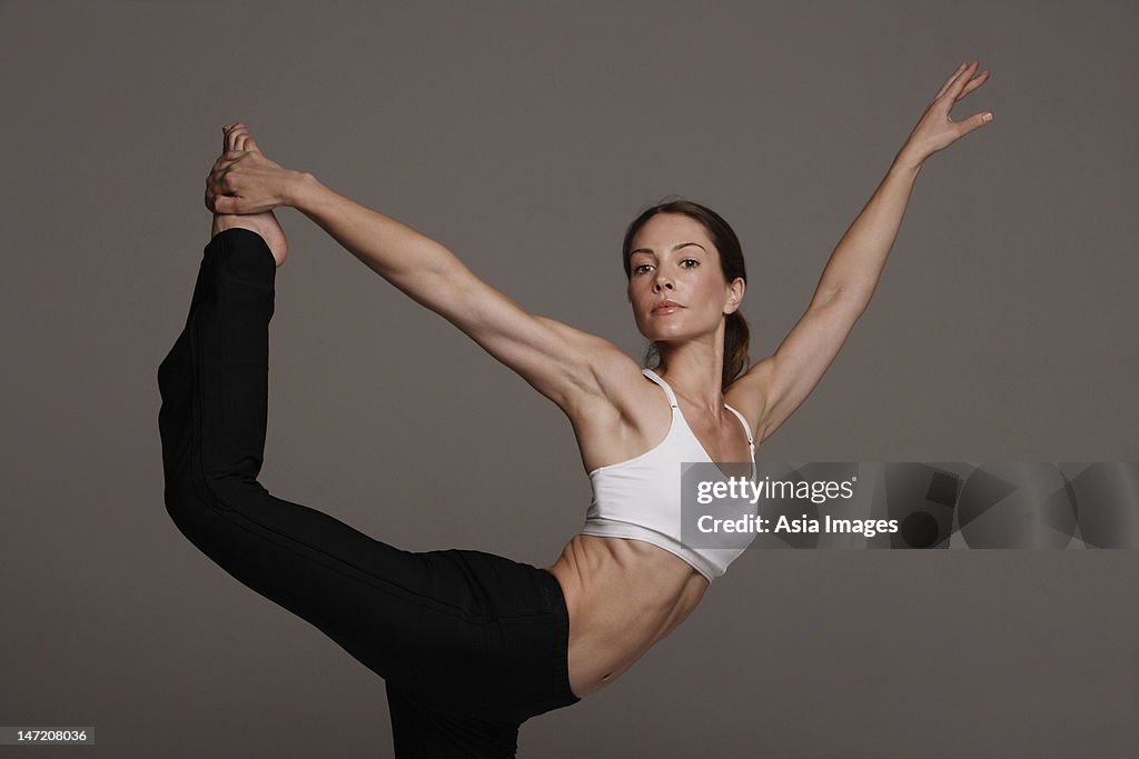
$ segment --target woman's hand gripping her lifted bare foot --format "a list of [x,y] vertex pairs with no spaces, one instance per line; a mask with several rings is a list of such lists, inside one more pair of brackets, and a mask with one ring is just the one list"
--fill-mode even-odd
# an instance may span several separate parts
[[206,207],[215,214],[259,214],[288,205],[290,189],[302,176],[262,155],[244,124],[227,129],[227,150],[206,178]]

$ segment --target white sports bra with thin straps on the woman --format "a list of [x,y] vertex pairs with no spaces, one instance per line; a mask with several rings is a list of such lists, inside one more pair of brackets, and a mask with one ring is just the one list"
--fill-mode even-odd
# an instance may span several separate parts
[[[599,467],[589,473],[593,486],[593,500],[585,513],[583,535],[622,537],[652,543],[693,566],[711,583],[728,571],[728,564],[736,560],[744,547],[694,548],[681,539],[681,467],[683,462],[711,462],[707,451],[696,434],[685,421],[685,414],[677,404],[677,396],[667,382],[649,369],[641,370],[645,377],[659,385],[672,406],[672,426],[664,440],[639,456],[608,467]],[[744,415],[729,406],[723,407],[736,414],[747,435],[752,457],[752,475],[755,479],[755,442],[752,428]]]

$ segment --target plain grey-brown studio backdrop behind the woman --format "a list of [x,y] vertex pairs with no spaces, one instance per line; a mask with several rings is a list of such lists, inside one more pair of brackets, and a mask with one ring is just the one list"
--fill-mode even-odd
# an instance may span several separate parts
[[[222,124],[636,356],[624,228],[665,195],[705,203],[743,239],[762,356],[978,58],[992,77],[954,116],[994,122],[926,164],[869,312],[760,457],[1136,461],[1137,22],[1126,2],[0,3],[0,724],[99,742],[8,751],[390,753],[383,682],[163,506],[155,377]],[[589,501],[560,412],[279,216],[262,482],[402,547],[552,562]],[[1133,756],[1137,569],[751,551],[616,684],[528,723],[521,756]]]

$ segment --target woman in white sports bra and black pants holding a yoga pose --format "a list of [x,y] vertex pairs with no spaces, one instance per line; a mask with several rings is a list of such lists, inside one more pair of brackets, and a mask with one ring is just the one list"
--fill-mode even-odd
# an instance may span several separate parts
[[[399,756],[514,756],[525,719],[620,676],[738,554],[687,546],[670,528],[677,464],[752,461],[814,388],[870,300],[925,159],[991,119],[949,117],[988,79],[976,69],[962,64],[944,83],[803,317],[751,369],[739,242],[703,206],[655,206],[625,236],[633,316],[659,352],[657,370],[642,371],[606,340],[522,311],[439,242],[269,160],[243,125],[226,127],[206,184],[213,238],[158,372],[171,517],[227,571],[385,678]],[[308,215],[567,414],[595,501],[551,567],[401,551],[256,481],[273,278],[287,255],[277,206]]]

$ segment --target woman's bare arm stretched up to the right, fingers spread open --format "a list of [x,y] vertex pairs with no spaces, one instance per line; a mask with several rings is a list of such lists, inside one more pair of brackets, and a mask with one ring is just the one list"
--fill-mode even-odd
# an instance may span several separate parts
[[913,183],[925,160],[992,119],[976,114],[953,122],[953,104],[984,84],[977,63],[961,64],[929,102],[869,203],[830,255],[811,305],[773,355],[757,362],[728,389],[729,403],[756,426],[762,440],[802,405],[866,311],[898,237]]

